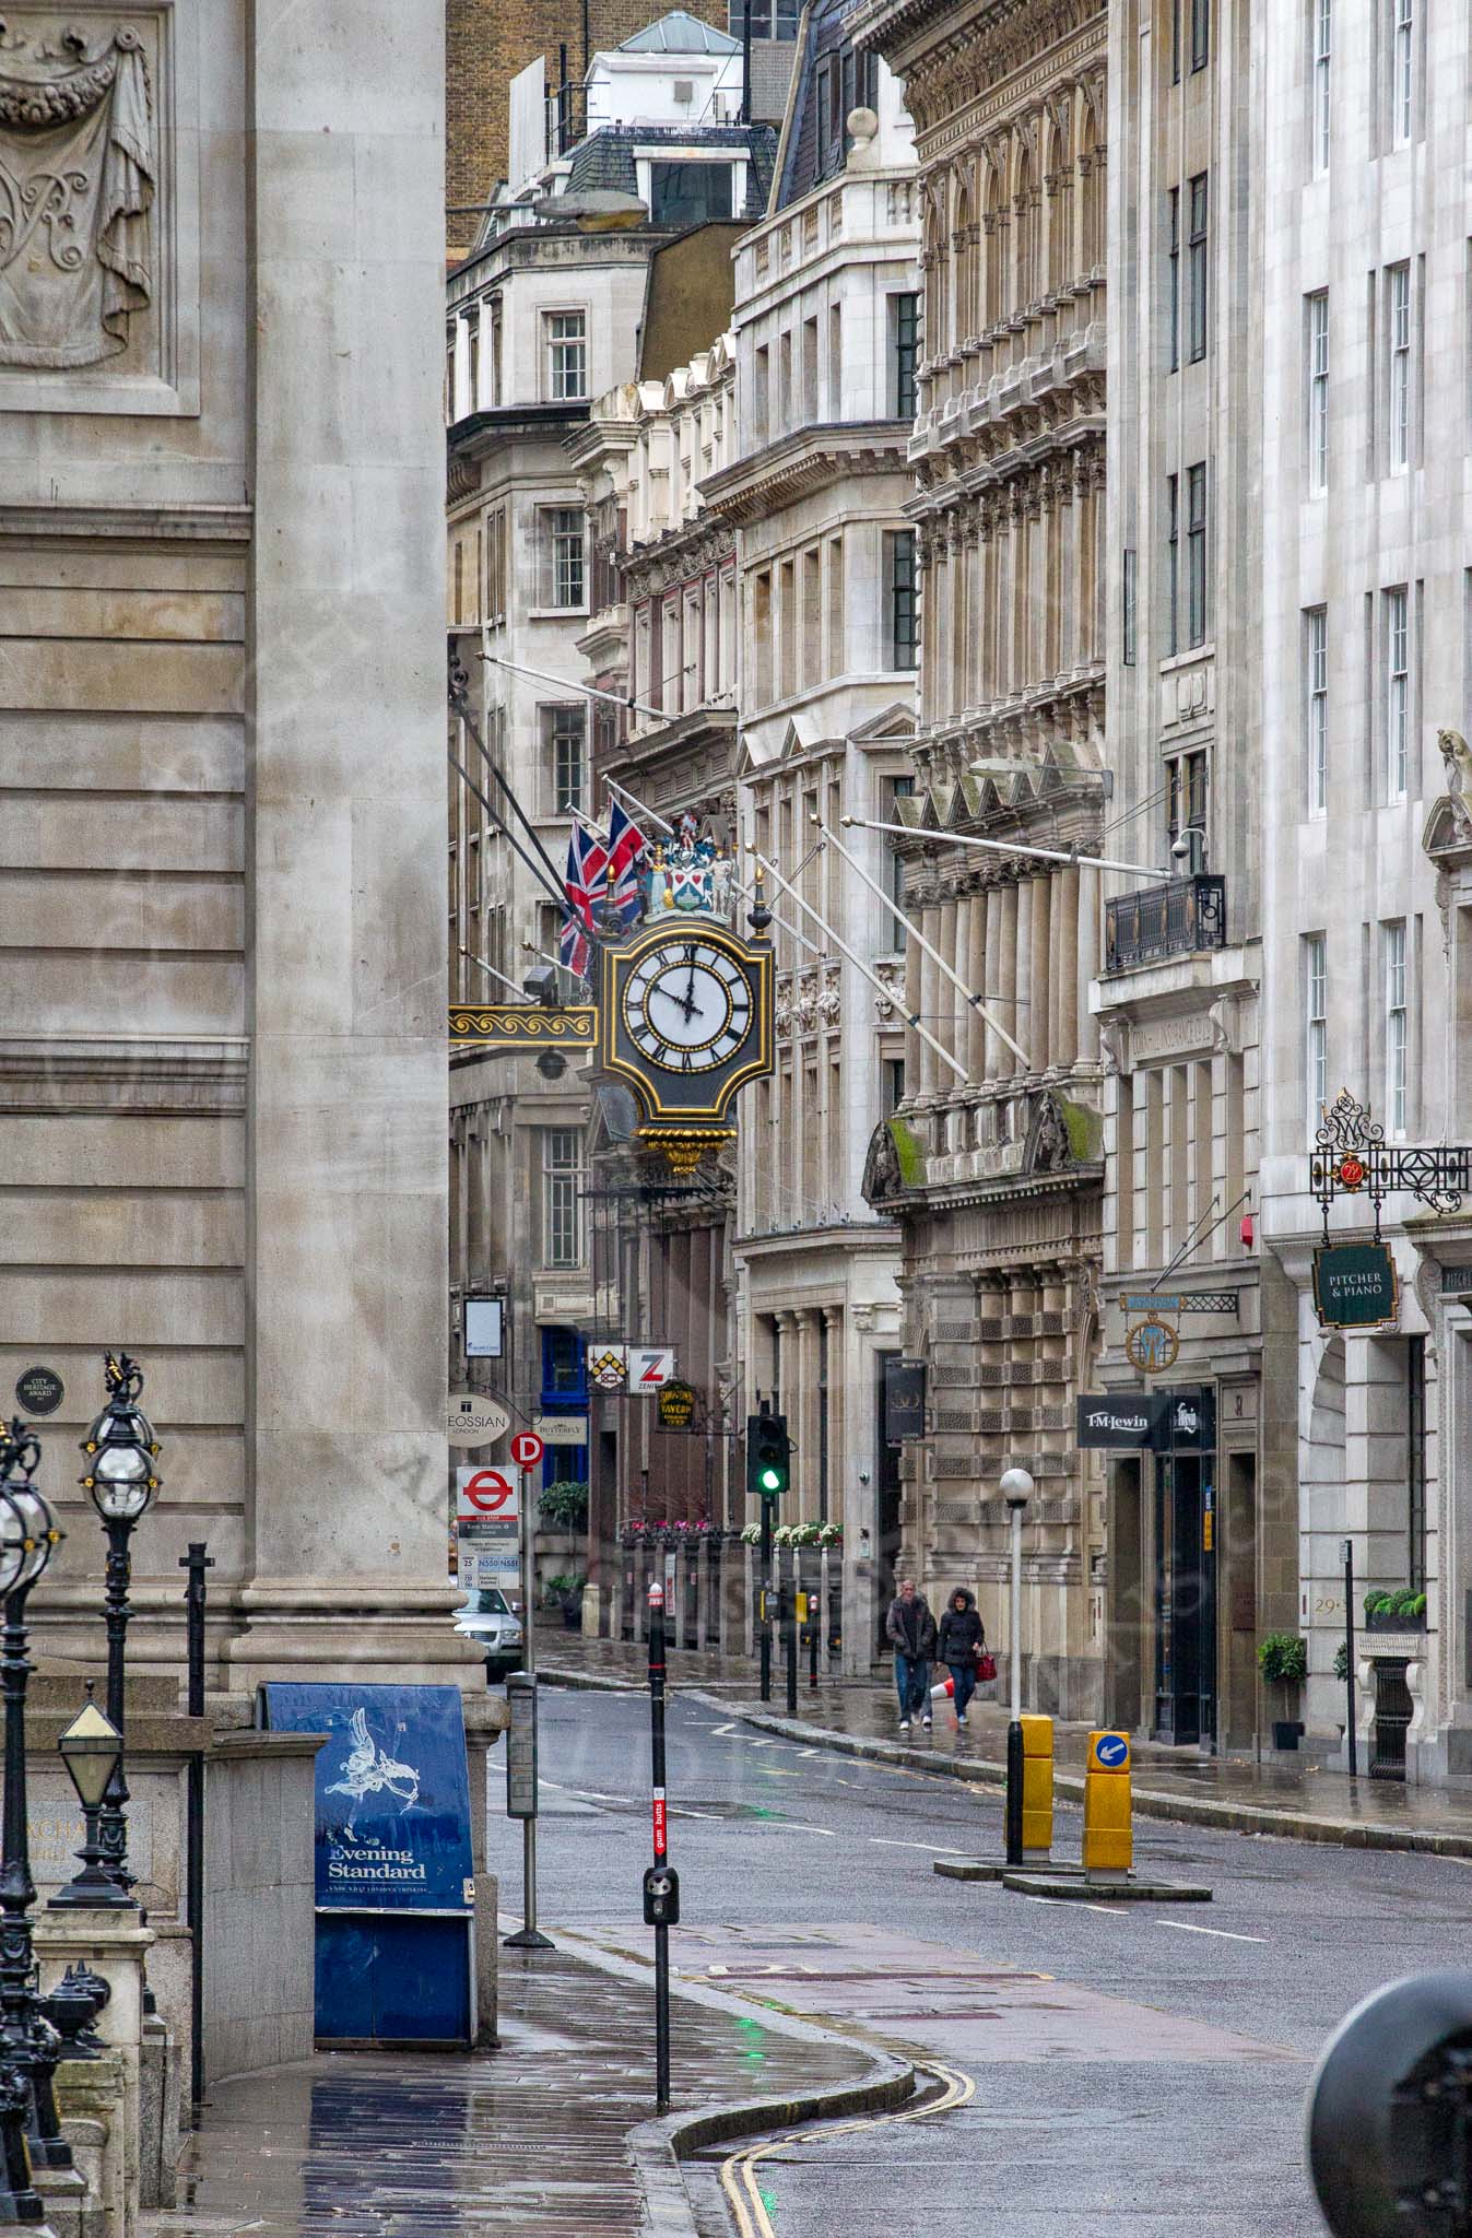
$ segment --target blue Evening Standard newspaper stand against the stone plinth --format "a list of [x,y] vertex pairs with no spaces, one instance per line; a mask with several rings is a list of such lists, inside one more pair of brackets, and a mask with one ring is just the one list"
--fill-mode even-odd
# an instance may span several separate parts
[[268,1683],[257,1723],[327,1734],[318,2039],[470,2046],[474,1882],[459,1687]]

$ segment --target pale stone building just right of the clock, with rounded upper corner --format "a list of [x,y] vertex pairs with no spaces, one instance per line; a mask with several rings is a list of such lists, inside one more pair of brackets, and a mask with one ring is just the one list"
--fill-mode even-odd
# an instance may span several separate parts
[[[738,450],[705,481],[738,546],[745,862],[763,855],[796,886],[767,884],[776,1070],[740,1112],[736,1414],[758,1397],[785,1410],[783,1520],[843,1526],[843,1654],[868,1667],[897,1546],[879,1383],[899,1350],[899,1238],[861,1177],[902,1094],[899,965],[890,913],[812,817],[839,833],[841,815],[884,817],[908,786],[919,224],[890,72],[855,54],[837,4],[810,11],[805,40],[767,215],[736,255]],[[855,853],[893,880],[881,835],[857,835]],[[879,994],[825,927],[886,960]]]

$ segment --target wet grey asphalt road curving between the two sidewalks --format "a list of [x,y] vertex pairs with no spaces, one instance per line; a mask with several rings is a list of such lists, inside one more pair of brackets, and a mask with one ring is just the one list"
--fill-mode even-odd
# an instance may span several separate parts
[[[940,1732],[937,1750],[946,1748]],[[541,1696],[541,1922],[644,1952],[649,1708]],[[519,1902],[492,1772],[490,1866]],[[1309,2238],[1302,2093],[1333,2023],[1398,1974],[1470,1963],[1472,1869],[1136,1822],[1136,1869],[1208,1907],[1045,1905],[944,1882],[1000,1853],[1000,1799],[669,1710],[671,1963],[971,2075],[969,2106],[763,2164],[779,2238]],[[1060,1811],[1054,1855],[1078,1853]],[[812,1929],[810,1938],[792,1929]],[[1009,1996],[1009,1969],[1045,1976]],[[676,2079],[678,2086],[678,2079]],[[720,2229],[714,2193],[702,2218]]]

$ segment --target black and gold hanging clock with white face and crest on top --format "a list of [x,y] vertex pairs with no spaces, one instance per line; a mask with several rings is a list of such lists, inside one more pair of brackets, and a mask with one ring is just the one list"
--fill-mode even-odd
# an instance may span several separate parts
[[[651,875],[653,915],[600,965],[600,1061],[629,1081],[638,1137],[680,1175],[729,1141],[732,1097],[772,1070],[772,949],[709,906],[716,888],[671,848]],[[723,868],[696,862],[696,871]]]

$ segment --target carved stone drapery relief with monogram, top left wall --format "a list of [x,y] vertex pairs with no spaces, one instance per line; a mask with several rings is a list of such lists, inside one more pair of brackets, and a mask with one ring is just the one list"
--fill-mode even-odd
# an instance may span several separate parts
[[60,372],[128,349],[154,295],[154,119],[143,43],[119,25],[0,22],[0,365]]

